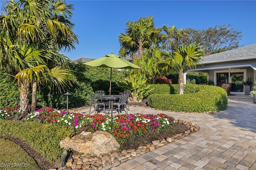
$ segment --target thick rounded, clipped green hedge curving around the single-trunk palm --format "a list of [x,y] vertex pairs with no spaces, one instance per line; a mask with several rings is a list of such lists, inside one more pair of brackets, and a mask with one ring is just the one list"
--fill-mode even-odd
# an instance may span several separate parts
[[[155,92],[148,96],[148,105],[163,111],[185,111],[204,113],[208,111],[222,111],[228,107],[227,93],[221,87],[207,85],[185,85],[184,95],[177,94],[178,85],[170,88],[157,86]],[[172,90],[173,89],[173,90]],[[165,91],[165,92],[164,92]],[[171,93],[166,94],[169,91]]]

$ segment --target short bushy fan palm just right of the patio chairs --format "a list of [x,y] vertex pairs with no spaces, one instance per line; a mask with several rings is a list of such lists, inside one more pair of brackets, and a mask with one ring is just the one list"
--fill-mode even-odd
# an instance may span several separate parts
[[139,102],[143,99],[143,96],[149,93],[151,85],[146,85],[147,78],[142,74],[130,74],[126,80],[122,80],[118,85],[124,90],[131,91],[131,102]]

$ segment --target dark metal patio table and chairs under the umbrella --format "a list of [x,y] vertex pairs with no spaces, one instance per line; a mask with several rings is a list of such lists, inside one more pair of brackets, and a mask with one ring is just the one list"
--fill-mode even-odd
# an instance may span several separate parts
[[[124,91],[119,93],[119,95],[105,95],[105,92],[102,90],[95,91],[95,93],[88,93],[90,99],[90,111],[95,111],[95,114],[103,111],[106,115],[109,113],[115,113],[118,111],[118,115],[125,111],[128,114],[129,110],[129,101],[130,91]],[[91,107],[94,106],[94,111],[91,112]]]

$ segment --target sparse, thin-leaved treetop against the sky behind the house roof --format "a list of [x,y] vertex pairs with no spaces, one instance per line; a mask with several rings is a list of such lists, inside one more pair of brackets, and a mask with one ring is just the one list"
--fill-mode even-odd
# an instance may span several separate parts
[[234,30],[231,24],[210,27],[206,30],[187,28],[186,32],[190,35],[190,40],[185,42],[188,44],[201,43],[206,55],[238,48],[239,40],[242,38],[241,32]]

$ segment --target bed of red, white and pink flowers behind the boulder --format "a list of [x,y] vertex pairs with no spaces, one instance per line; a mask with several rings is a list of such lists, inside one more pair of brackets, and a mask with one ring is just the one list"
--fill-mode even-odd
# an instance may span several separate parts
[[38,121],[39,123],[54,123],[58,125],[73,126],[76,132],[96,132],[102,130],[110,132],[119,143],[123,143],[131,135],[144,136],[151,131],[157,133],[164,128],[169,128],[175,123],[173,117],[165,114],[144,115],[129,114],[113,117],[111,130],[111,117],[101,114],[83,115],[81,113],[69,113],[58,111],[50,107],[44,107],[26,117],[26,121]]

